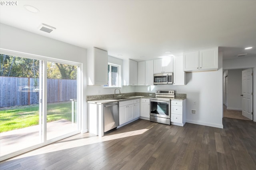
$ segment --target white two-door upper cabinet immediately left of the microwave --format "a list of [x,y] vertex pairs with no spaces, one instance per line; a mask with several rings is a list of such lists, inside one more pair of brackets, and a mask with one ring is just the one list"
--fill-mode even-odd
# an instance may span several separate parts
[[154,85],[153,67],[153,60],[138,62],[138,85]]

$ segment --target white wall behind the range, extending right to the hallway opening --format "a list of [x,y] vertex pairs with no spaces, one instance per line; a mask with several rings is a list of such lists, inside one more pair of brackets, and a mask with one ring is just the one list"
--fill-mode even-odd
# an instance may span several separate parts
[[[187,123],[223,128],[222,53],[219,54],[218,60],[218,71],[186,73],[186,85],[137,86],[136,92],[155,93],[161,89],[186,93]],[[191,110],[196,110],[196,115],[192,115]]]

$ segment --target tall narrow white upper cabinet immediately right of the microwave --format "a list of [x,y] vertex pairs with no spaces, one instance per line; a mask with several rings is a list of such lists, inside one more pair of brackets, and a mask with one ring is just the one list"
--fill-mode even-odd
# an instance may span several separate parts
[[173,85],[185,85],[185,72],[183,71],[183,57],[173,59]]

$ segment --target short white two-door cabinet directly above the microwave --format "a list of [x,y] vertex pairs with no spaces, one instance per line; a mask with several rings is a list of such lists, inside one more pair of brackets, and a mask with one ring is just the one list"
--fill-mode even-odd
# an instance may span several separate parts
[[173,72],[173,57],[154,59],[154,74],[172,73],[172,72]]

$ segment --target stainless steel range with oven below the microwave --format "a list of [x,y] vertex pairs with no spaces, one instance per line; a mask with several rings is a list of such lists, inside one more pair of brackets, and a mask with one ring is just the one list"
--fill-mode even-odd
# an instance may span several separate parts
[[156,97],[150,98],[150,121],[171,124],[171,99],[174,90],[157,90]]

